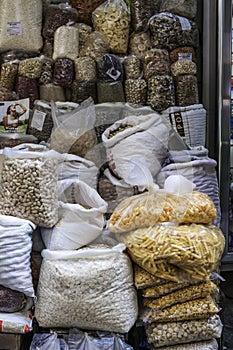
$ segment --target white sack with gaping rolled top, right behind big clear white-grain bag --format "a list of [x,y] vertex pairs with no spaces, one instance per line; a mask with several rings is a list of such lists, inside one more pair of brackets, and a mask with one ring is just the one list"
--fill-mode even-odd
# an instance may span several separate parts
[[58,182],[59,220],[52,229],[41,228],[46,248],[78,249],[101,235],[107,203],[85,182],[66,179]]

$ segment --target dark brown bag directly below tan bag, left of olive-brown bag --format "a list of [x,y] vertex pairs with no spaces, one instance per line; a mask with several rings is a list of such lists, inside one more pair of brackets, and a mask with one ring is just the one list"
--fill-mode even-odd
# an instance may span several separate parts
[[91,97],[97,103],[97,84],[95,81],[74,80],[71,85],[71,101],[81,103]]

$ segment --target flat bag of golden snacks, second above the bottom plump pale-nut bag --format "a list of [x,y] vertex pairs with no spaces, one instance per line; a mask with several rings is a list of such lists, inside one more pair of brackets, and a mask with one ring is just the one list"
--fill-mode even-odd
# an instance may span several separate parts
[[144,298],[143,305],[153,310],[164,310],[169,306],[184,303],[189,300],[205,298],[217,292],[217,286],[206,281],[189,285],[159,298]]

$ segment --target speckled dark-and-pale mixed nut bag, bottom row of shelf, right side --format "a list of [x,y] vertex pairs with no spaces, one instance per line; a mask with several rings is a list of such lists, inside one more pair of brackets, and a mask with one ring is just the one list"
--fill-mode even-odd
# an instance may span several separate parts
[[148,79],[147,103],[158,112],[175,105],[175,88],[170,75]]

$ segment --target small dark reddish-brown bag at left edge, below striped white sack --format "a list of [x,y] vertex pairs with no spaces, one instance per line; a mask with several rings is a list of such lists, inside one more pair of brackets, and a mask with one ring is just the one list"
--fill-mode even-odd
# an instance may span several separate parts
[[26,304],[25,295],[0,285],[0,312],[17,312]]

